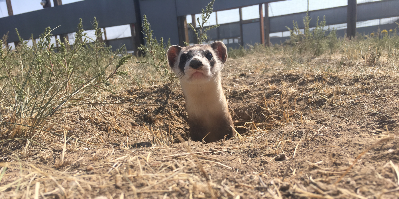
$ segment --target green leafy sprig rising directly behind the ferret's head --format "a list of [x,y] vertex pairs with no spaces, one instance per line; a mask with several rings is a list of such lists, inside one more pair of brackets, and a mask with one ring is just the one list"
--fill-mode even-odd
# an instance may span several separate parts
[[205,10],[201,10],[201,20],[199,20],[199,18],[197,18],[197,23],[198,23],[198,29],[196,27],[194,27],[191,23],[189,23],[188,25],[190,26],[191,29],[194,30],[194,33],[196,34],[197,37],[197,44],[201,44],[205,41],[207,41],[208,36],[206,35],[206,32],[209,31],[210,29],[213,28],[217,28],[219,27],[219,24],[217,25],[211,25],[209,27],[206,27],[205,29],[203,27],[205,27],[206,23],[208,23],[209,18],[211,17],[211,14],[213,12],[213,3],[215,2],[215,0],[211,0],[211,2],[209,2],[209,4],[206,6]]

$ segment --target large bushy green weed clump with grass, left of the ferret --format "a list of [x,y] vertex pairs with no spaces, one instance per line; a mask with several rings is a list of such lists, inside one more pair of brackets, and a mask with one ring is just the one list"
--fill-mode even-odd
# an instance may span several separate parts
[[65,107],[113,92],[113,79],[127,75],[120,69],[132,56],[119,57],[122,48],[105,46],[96,18],[93,30],[95,39],[84,33],[80,19],[73,45],[56,39],[55,47],[50,27],[37,42],[31,38],[32,46],[17,29],[15,50],[0,42],[0,140],[36,139]]

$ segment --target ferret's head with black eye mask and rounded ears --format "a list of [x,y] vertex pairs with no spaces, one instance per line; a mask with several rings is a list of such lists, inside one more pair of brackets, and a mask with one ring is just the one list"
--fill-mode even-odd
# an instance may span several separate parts
[[202,84],[220,76],[227,59],[227,48],[221,41],[215,41],[211,45],[173,45],[168,49],[167,55],[169,65],[180,82]]

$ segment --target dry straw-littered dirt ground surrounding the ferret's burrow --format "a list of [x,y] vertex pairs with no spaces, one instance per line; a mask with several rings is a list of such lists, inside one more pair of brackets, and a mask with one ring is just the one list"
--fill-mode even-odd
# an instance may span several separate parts
[[241,136],[190,141],[179,86],[132,88],[0,142],[0,198],[399,198],[396,76],[228,71]]

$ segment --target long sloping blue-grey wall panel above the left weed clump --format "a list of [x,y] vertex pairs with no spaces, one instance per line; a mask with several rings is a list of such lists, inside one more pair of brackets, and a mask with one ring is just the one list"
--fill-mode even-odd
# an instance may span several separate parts
[[29,39],[31,34],[38,38],[46,27],[55,28],[59,25],[61,26],[52,32],[53,35],[72,33],[77,30],[79,18],[83,20],[84,29],[91,29],[94,17],[99,21],[100,27],[136,22],[133,1],[90,0],[0,18],[0,35],[10,31],[8,42],[18,41],[14,30],[18,28],[23,39]]

